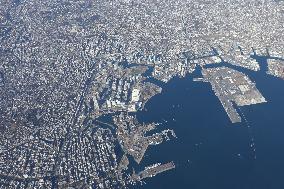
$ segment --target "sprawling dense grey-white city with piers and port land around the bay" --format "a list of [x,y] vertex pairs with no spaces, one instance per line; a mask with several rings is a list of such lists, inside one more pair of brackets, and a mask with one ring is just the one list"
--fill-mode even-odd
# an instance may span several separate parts
[[240,122],[233,104],[267,101],[235,68],[265,57],[284,79],[283,25],[276,0],[1,0],[0,188],[128,188],[172,171],[132,167],[178,140],[136,118],[158,83],[201,69]]

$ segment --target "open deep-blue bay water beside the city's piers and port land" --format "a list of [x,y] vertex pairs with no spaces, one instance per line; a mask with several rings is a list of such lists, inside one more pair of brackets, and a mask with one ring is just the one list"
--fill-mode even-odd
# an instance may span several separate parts
[[147,111],[138,113],[140,121],[162,122],[160,130],[174,129],[178,136],[150,147],[141,166],[173,160],[177,167],[134,188],[284,188],[284,81],[266,75],[263,68],[240,70],[268,101],[241,107],[247,122],[232,124],[210,84],[193,82],[193,76],[165,84],[163,92],[147,103]]

